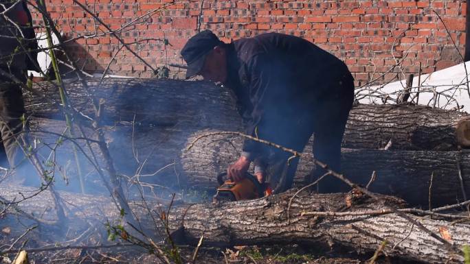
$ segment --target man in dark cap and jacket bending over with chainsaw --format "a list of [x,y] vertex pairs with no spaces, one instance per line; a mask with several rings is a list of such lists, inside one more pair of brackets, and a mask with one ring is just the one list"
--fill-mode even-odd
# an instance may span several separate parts
[[[295,36],[268,33],[225,44],[212,32],[196,34],[181,50],[188,64],[186,77],[202,75],[234,91],[245,133],[302,152],[315,133],[315,158],[340,170],[341,142],[353,104],[354,82],[338,58]],[[265,144],[245,140],[243,154],[227,169],[239,181],[252,161],[264,182],[266,165],[283,166],[284,191],[291,187],[298,158]],[[284,167],[285,165],[285,167]],[[317,169],[321,176],[324,171]],[[346,184],[326,177],[320,191],[346,191]]]

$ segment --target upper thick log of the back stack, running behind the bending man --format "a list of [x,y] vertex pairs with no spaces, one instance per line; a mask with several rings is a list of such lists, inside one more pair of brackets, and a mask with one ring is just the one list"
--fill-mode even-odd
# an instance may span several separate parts
[[[189,134],[202,128],[241,130],[230,91],[208,82],[107,78],[100,87],[98,80],[88,83],[90,91],[79,82],[67,82],[71,104],[93,116],[88,95],[104,99],[108,124],[136,121]],[[35,89],[58,99],[50,84],[38,84]],[[37,117],[62,117],[56,106],[34,93],[24,93],[27,111]],[[454,130],[462,119],[469,115],[425,106],[359,105],[350,112],[343,147],[379,149],[391,142],[390,149],[456,150]]]

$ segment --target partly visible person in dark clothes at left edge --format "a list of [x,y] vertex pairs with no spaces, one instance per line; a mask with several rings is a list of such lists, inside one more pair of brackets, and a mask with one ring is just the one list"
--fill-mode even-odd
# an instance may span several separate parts
[[26,82],[28,69],[37,71],[37,43],[25,1],[2,1],[0,12],[0,133],[13,169],[25,163],[19,147],[25,139],[22,135],[25,108],[18,82]]

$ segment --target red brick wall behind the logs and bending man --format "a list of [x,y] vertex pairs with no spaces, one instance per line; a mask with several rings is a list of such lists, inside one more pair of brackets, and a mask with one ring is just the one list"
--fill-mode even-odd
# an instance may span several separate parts
[[[74,58],[85,63],[87,71],[103,71],[120,48],[117,40],[99,23],[93,24],[71,0],[46,0],[47,8],[68,39]],[[358,84],[379,77],[380,82],[396,77],[400,70],[386,73],[396,60],[403,59],[404,73],[443,69],[460,62],[443,23],[461,52],[465,47],[466,1],[175,1],[88,0],[90,10],[113,30],[137,16],[162,8],[150,18],[138,20],[117,32],[126,43],[146,38],[168,40],[142,41],[130,47],[151,65],[183,63],[179,50],[201,29],[211,29],[222,40],[282,32],[301,36],[334,53],[348,64]],[[201,3],[203,6],[201,7]],[[40,16],[35,12],[35,23]],[[198,23],[200,21],[200,25]],[[101,34],[101,35],[100,35]],[[392,56],[392,49],[394,50]],[[404,58],[405,57],[405,58]],[[170,67],[170,75],[182,72]],[[150,77],[151,71],[126,49],[111,63],[114,74]],[[383,74],[383,77],[380,77]]]

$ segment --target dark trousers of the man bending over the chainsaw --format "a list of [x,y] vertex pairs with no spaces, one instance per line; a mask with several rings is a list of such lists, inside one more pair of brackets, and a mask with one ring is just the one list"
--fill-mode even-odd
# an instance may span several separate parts
[[[291,130],[296,134],[290,134],[287,145],[302,152],[313,134],[314,158],[326,163],[334,171],[341,172],[341,143],[349,111],[353,106],[354,80],[350,73],[344,73],[337,81],[330,82],[322,89],[324,93],[316,100],[311,112],[305,112],[298,121],[298,128]],[[286,191],[293,183],[299,158],[293,158],[287,163],[289,156],[291,154],[278,152],[275,159],[278,161],[269,169],[270,174],[282,175],[284,182],[278,185],[278,192]],[[311,181],[317,180],[324,173],[324,169],[316,166]],[[320,193],[345,192],[349,189],[347,184],[334,176],[326,176],[318,184]]]

